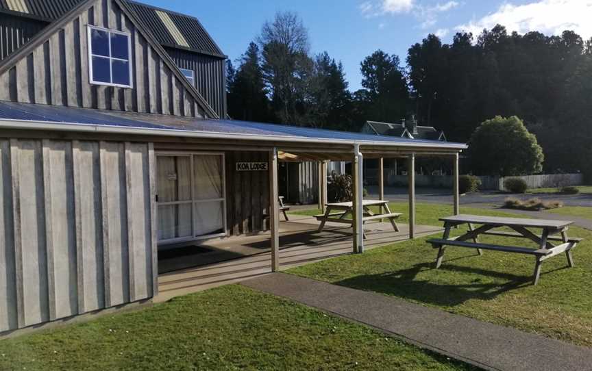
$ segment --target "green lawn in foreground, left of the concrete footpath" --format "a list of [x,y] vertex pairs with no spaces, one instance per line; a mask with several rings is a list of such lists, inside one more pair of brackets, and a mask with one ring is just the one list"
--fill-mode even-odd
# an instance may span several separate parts
[[472,369],[240,285],[3,340],[0,353],[0,370]]

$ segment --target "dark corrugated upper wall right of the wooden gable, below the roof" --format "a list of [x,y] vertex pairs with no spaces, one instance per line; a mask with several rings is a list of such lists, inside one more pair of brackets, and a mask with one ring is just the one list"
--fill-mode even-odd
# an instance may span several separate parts
[[165,48],[165,50],[177,66],[193,70],[197,91],[206,99],[212,110],[224,118],[226,116],[225,60],[180,49]]

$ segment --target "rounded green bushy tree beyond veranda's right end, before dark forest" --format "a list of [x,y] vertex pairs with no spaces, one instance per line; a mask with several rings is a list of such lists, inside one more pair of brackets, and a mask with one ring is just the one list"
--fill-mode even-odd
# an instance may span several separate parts
[[471,169],[477,175],[528,175],[543,169],[543,149],[517,116],[484,121],[469,141]]

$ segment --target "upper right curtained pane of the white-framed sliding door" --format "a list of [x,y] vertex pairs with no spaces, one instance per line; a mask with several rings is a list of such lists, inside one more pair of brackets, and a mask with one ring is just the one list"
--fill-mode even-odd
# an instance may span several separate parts
[[221,199],[222,196],[222,156],[196,155],[193,157],[195,168],[195,199]]

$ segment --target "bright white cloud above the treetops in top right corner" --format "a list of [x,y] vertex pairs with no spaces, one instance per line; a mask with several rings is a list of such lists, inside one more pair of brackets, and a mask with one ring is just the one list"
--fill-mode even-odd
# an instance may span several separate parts
[[582,38],[592,36],[592,0],[539,0],[525,5],[502,4],[496,12],[455,27],[478,35],[483,29],[504,25],[508,32],[541,31],[558,35],[565,29]]

